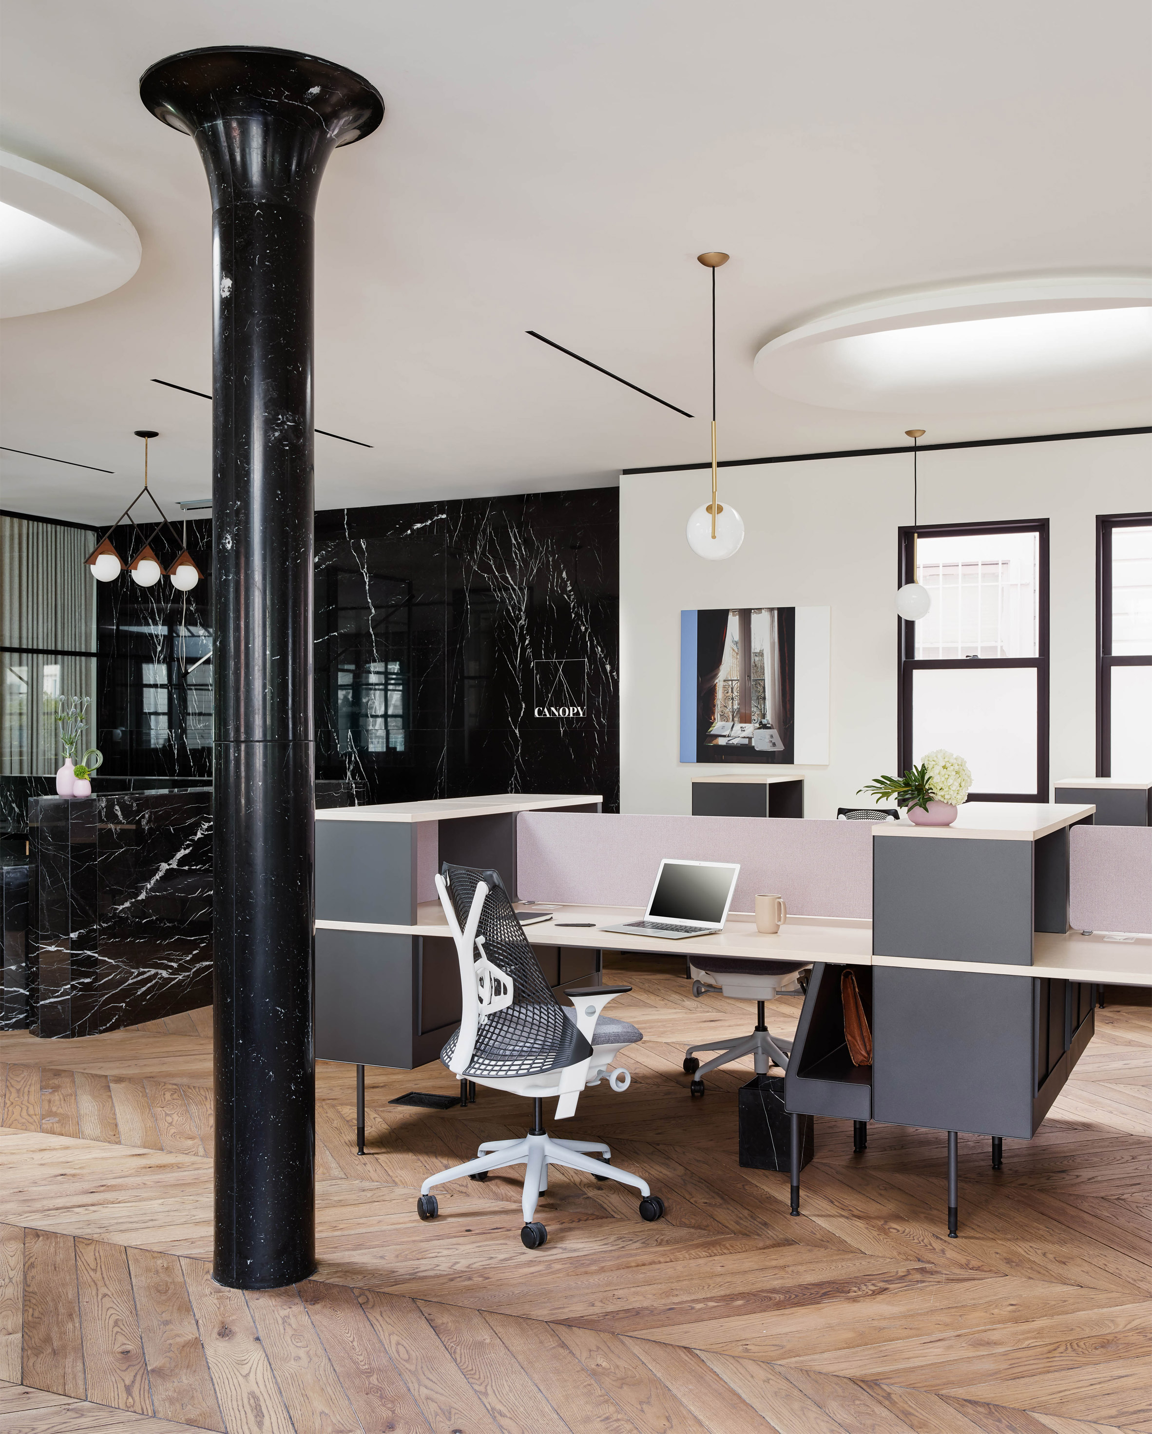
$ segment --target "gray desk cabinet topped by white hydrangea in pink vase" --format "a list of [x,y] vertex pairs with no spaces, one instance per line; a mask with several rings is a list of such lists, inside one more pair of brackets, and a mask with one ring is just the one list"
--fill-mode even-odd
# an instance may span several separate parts
[[[854,968],[871,1068],[844,1040],[844,967],[812,969],[788,1110],[947,1131],[950,1235],[957,1131],[991,1136],[1000,1169],[1003,1137],[1031,1139],[1092,1038],[1095,987],[1027,974],[1034,932],[1067,931],[1067,827],[1090,819],[1092,807],[973,803],[953,827],[877,826],[872,965]],[[793,1213],[798,1184],[796,1172]]]

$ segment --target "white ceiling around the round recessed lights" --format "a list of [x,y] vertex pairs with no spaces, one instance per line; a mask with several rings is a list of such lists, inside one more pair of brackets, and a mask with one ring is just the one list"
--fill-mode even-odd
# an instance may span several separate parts
[[[273,44],[346,63],[387,113],[317,217],[318,508],[614,482],[720,456],[1152,422],[1152,399],[996,416],[855,413],[760,387],[756,351],[867,295],[1152,261],[1143,0],[24,0],[0,143],[115,204],[136,275],[4,321],[0,506],[106,522],[209,489],[208,191],[141,105],[154,60]],[[527,337],[535,328],[684,419]]]

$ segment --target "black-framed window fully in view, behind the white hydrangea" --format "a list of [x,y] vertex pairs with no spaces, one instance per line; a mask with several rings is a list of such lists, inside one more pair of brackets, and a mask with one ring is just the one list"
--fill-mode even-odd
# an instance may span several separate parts
[[933,605],[897,619],[900,770],[943,747],[970,802],[1047,802],[1047,519],[901,528],[901,584],[914,568]]

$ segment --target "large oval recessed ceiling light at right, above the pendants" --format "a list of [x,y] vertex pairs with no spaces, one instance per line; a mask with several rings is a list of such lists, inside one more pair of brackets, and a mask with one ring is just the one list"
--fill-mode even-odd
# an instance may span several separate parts
[[773,338],[755,373],[788,399],[872,413],[1148,397],[1152,280],[1003,280],[871,300]]

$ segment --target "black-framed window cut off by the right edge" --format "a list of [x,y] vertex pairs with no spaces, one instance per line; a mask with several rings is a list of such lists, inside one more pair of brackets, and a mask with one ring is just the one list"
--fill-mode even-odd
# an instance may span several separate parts
[[1096,519],[1096,776],[1152,779],[1152,513]]

